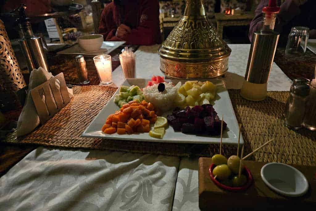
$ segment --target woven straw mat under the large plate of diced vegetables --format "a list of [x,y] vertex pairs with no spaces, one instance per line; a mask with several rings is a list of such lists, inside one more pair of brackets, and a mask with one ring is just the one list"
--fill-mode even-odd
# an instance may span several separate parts
[[[125,152],[154,153],[174,156],[210,156],[219,152],[219,145],[177,144],[144,141],[106,140],[80,137],[84,129],[112,97],[116,88],[74,86],[74,99],[52,119],[33,133],[16,138],[12,133],[5,142],[28,143],[65,148],[104,149]],[[316,164],[316,132],[307,129],[289,130],[283,125],[283,111],[289,92],[268,92],[262,102],[251,102],[229,90],[229,95],[245,140],[246,153],[275,138],[272,144],[255,153],[264,162]],[[223,154],[236,154],[237,146],[223,145]]]

